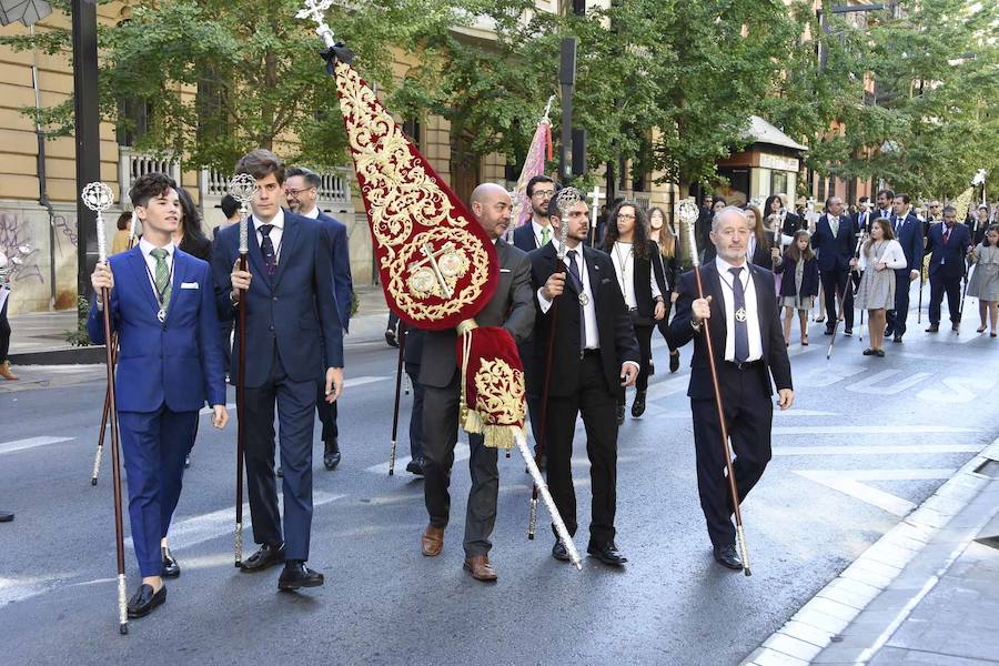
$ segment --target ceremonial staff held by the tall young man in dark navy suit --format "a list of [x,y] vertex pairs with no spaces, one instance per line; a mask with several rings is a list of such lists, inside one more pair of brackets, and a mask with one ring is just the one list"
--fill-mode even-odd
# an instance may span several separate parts
[[[250,202],[256,196],[256,180],[249,173],[240,173],[229,181],[229,193],[240,202],[240,270],[246,271],[250,253]],[[236,382],[236,525],[235,525],[235,566],[243,563],[243,452],[246,442],[246,290],[240,290],[239,341],[240,355],[236,361],[239,381]]]

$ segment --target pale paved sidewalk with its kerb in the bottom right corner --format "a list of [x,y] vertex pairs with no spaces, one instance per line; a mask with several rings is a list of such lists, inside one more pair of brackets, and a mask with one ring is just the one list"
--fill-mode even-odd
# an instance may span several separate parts
[[744,664],[999,664],[999,440]]

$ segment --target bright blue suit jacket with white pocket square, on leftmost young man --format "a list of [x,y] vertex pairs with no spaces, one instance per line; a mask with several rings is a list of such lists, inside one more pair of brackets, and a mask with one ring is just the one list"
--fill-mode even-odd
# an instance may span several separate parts
[[[164,323],[157,319],[160,305],[142,251],[137,246],[109,259],[114,275],[111,327],[118,331],[120,345],[117,400],[122,412],[155,412],[163,404],[174,412],[194,412],[205,400],[225,404],[211,269],[181,250],[173,258]],[[95,303],[87,330],[91,341],[104,344],[104,317]]]

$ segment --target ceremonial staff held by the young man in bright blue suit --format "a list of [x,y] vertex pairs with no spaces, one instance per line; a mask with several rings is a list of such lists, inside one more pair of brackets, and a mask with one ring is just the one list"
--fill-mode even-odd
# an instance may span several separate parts
[[[97,213],[98,261],[108,263],[108,241],[104,238],[104,211],[114,202],[111,188],[102,182],[92,182],[83,188],[83,205]],[[124,579],[124,527],[121,518],[121,455],[118,432],[118,407],[114,402],[114,349],[111,337],[111,290],[101,289],[101,309],[104,320],[104,362],[108,371],[108,402],[111,420],[111,474],[114,484],[114,549],[118,564],[118,630],[129,633],[129,617],[125,601]]]

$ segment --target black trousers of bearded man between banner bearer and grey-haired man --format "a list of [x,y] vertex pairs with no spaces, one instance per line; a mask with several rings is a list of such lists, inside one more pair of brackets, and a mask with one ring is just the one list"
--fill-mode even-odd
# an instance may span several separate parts
[[[617,511],[617,402],[619,393],[607,386],[599,353],[581,361],[579,389],[572,395],[548,398],[546,468],[548,490],[569,534],[576,533],[576,490],[573,486],[573,434],[583,414],[586,455],[593,490],[589,541],[614,541]],[[552,527],[554,532],[554,526]]]

